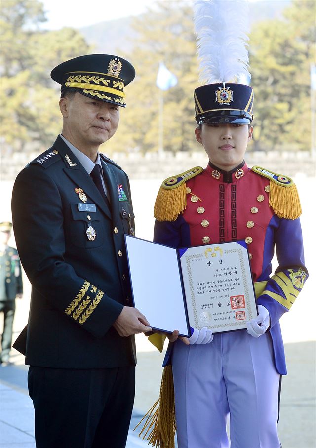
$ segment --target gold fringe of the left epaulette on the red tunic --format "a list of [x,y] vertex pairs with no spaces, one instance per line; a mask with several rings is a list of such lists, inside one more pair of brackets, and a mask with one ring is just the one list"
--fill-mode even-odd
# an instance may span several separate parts
[[157,221],[175,221],[187,206],[186,183],[179,187],[165,189],[160,187],[154,206]]

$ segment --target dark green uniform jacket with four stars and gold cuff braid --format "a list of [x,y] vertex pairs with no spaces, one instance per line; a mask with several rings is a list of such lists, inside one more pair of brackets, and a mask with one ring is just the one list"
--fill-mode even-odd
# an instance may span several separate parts
[[129,181],[117,164],[101,159],[111,209],[61,137],[15,181],[13,228],[32,297],[27,329],[14,347],[25,351],[26,364],[136,362],[134,337],[112,326],[123,305],[132,306],[124,244],[134,227]]

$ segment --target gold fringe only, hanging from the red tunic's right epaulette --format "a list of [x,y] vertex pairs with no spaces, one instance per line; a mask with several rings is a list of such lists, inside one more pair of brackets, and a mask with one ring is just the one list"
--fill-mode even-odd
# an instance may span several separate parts
[[279,218],[296,219],[302,213],[296,185],[284,187],[270,181],[269,205]]

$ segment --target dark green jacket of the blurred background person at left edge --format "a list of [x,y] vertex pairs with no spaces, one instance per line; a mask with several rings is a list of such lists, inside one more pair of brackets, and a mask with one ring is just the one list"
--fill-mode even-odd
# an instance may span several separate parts
[[15,300],[17,294],[23,293],[22,272],[18,252],[7,246],[0,251],[0,301]]

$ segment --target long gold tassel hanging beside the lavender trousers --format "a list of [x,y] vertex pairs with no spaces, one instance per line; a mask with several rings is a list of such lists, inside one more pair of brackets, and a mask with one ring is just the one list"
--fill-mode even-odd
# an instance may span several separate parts
[[[157,409],[155,410],[155,408]],[[146,418],[147,417],[147,418]],[[159,400],[144,415],[134,430],[146,418],[143,429],[139,437],[143,435],[143,440],[147,438],[148,444],[158,448],[174,448],[174,436],[176,432],[176,419],[174,407],[174,389],[172,366],[163,369]],[[149,433],[150,431],[150,433]],[[149,433],[149,434],[148,434]],[[148,436],[147,436],[148,434]]]

